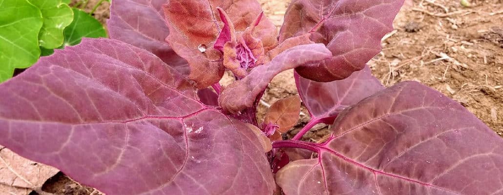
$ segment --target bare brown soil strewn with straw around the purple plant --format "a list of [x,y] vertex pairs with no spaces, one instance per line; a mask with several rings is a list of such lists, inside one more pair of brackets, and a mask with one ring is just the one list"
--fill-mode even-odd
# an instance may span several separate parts
[[[290,0],[260,0],[266,15],[279,27]],[[98,0],[90,0],[90,6]],[[105,22],[108,3],[95,15]],[[373,74],[386,86],[404,80],[425,83],[461,103],[499,135],[503,135],[503,2],[408,1],[399,13],[396,31],[383,40],[383,51],[369,62]],[[223,81],[228,82],[228,81]],[[263,97],[259,117],[267,105],[297,94],[293,71],[275,77]],[[305,108],[302,113],[308,114]],[[309,117],[304,115],[293,136]],[[326,126],[306,134],[305,140],[320,141]],[[43,188],[56,194],[99,194],[63,174]]]

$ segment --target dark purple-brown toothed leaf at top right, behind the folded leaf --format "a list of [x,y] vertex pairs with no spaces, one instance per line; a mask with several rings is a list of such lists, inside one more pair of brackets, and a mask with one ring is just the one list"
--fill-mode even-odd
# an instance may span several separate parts
[[285,14],[280,42],[310,34],[333,57],[296,71],[320,82],[344,79],[381,51],[381,38],[393,30],[402,4],[403,0],[294,0]]

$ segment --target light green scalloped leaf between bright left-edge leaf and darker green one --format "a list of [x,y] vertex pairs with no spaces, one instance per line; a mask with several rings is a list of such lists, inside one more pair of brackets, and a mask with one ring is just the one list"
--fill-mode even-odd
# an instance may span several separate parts
[[53,49],[63,44],[63,30],[73,20],[73,12],[61,0],[30,0],[42,12],[44,24],[39,33],[40,46]]

